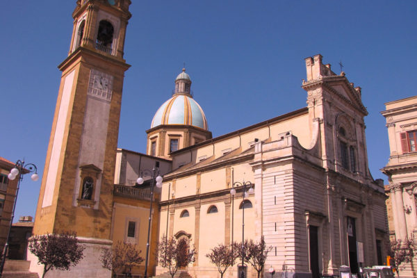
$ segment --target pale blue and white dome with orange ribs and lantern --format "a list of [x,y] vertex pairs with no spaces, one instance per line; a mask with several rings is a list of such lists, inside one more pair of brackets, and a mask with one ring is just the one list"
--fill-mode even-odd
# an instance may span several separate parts
[[156,111],[151,128],[161,124],[184,124],[207,130],[204,111],[190,95],[191,79],[183,72],[175,80],[175,93]]

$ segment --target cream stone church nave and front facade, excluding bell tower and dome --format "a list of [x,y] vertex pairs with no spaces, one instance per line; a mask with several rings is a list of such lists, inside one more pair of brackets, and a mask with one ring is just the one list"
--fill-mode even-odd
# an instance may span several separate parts
[[[216,277],[205,254],[241,241],[243,207],[245,239],[263,236],[272,246],[265,265],[286,277],[336,275],[341,265],[358,273],[384,263],[385,195],[368,170],[361,88],[320,55],[306,58],[306,72],[307,107],[170,152],[159,237],[195,245],[191,276]],[[236,181],[252,183],[245,202]],[[227,277],[239,269],[237,262]],[[255,275],[251,267],[245,272]]]

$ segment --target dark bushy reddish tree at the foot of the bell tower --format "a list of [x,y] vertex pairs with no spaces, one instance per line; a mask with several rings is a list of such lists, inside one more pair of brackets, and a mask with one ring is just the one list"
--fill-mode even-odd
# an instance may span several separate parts
[[38,257],[38,264],[44,265],[42,278],[54,268],[69,270],[83,259],[85,249],[71,232],[33,236],[28,243],[28,249]]

